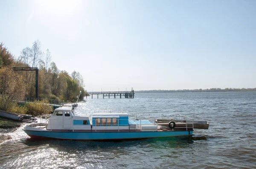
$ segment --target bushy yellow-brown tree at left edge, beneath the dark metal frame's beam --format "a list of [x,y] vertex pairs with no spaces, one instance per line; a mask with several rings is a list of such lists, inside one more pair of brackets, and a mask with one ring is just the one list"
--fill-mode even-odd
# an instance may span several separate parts
[[13,71],[11,67],[0,69],[0,109],[7,111],[13,100],[23,100],[26,93],[26,83],[23,76]]

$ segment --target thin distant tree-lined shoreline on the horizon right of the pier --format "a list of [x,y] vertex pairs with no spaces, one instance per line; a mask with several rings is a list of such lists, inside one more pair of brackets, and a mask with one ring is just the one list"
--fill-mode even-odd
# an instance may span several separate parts
[[210,88],[210,89],[183,89],[183,90],[135,90],[134,93],[198,93],[198,92],[252,92],[256,88]]

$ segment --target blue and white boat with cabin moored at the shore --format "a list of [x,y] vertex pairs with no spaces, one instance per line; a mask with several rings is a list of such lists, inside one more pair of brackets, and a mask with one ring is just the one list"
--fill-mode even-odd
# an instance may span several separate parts
[[76,107],[77,104],[72,107],[59,107],[47,122],[29,124],[23,131],[31,138],[128,140],[191,136],[195,128],[194,120],[184,115],[180,115],[184,118],[183,121],[174,118],[130,119],[128,113],[77,115]]

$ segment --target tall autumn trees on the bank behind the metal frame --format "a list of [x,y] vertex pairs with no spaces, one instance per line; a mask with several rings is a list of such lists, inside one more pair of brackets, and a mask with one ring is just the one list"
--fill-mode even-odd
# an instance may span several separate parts
[[[20,57],[16,65],[38,67],[39,81],[38,91],[39,97],[43,98],[61,98],[63,100],[76,100],[79,91],[84,91],[84,79],[76,70],[69,75],[65,70],[58,70],[55,62],[51,62],[51,52],[41,51],[41,43],[39,40],[33,42],[31,48],[26,47],[20,52]],[[27,96],[35,96],[35,72],[22,72],[26,78]],[[86,91],[84,91],[86,92]],[[81,96],[80,96],[81,97]],[[74,99],[75,98],[75,99]],[[79,98],[80,99],[80,98]]]

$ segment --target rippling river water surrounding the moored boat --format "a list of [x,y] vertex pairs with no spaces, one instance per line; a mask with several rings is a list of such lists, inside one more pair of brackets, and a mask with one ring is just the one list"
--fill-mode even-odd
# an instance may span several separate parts
[[256,92],[136,93],[134,99],[87,99],[77,110],[100,112],[182,114],[210,126],[192,137],[118,142],[33,140],[19,128],[0,145],[0,168],[256,168]]

